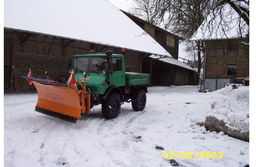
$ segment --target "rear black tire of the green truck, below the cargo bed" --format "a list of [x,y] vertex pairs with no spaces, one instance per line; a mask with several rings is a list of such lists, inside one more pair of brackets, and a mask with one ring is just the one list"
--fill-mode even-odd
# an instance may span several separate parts
[[132,109],[142,111],[146,106],[147,96],[145,90],[141,89],[132,97]]

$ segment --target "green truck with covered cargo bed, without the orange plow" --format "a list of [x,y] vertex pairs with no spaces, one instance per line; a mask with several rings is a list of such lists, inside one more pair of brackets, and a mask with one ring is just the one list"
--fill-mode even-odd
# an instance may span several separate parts
[[105,118],[116,118],[124,102],[131,102],[134,111],[145,108],[150,74],[125,72],[124,55],[112,51],[75,55],[73,70],[81,83],[83,72],[87,72],[85,81],[91,107],[101,104]]

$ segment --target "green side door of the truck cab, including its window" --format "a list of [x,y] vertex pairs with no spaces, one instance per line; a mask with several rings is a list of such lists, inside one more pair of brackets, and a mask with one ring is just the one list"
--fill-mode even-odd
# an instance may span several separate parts
[[122,68],[122,58],[112,57],[112,75],[110,75],[110,82],[115,86],[125,85],[125,72]]

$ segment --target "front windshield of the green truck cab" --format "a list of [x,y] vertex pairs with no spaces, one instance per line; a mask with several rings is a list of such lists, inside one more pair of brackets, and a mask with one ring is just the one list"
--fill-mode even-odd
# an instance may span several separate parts
[[108,70],[107,57],[75,57],[74,72],[102,72]]

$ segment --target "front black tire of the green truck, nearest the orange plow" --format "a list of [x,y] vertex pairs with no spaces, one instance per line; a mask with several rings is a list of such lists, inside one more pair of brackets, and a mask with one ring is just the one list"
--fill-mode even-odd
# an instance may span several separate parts
[[102,115],[107,119],[113,119],[118,116],[121,109],[120,96],[117,93],[111,93],[106,102],[101,103]]

